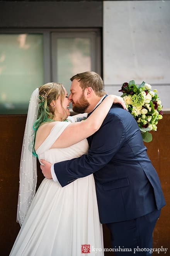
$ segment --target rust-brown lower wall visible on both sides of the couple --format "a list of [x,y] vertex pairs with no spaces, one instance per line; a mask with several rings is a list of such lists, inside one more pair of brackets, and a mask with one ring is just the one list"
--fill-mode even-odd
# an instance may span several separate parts
[[[20,226],[16,223],[19,190],[19,165],[25,115],[0,116],[0,255],[8,256]],[[167,205],[156,224],[153,247],[168,248],[170,237],[170,114],[164,114],[153,132],[153,141],[146,144],[148,155],[161,180]],[[38,186],[43,179],[38,164]],[[109,247],[109,232],[104,226],[104,247]],[[170,249],[169,249],[170,251]],[[170,253],[170,252],[169,252]],[[157,253],[156,253],[157,254]],[[155,255],[156,255],[155,254]],[[105,255],[113,255],[112,253]],[[154,254],[152,254],[154,255]],[[160,254],[161,255],[161,254]],[[170,255],[167,254],[166,255]]]

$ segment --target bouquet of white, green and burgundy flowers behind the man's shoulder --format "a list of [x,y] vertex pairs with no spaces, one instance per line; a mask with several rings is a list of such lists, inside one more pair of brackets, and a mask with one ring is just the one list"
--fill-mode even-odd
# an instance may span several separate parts
[[152,135],[149,131],[157,130],[157,123],[162,119],[162,105],[157,90],[151,91],[151,85],[144,81],[136,85],[134,80],[123,83],[121,90],[129,112],[136,119],[141,130],[143,141],[150,142]]

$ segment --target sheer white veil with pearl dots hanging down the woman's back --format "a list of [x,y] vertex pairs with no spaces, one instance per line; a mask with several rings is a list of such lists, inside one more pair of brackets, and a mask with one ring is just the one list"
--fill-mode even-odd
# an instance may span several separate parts
[[37,88],[31,95],[27,114],[26,128],[22,144],[20,159],[20,184],[17,208],[17,222],[20,226],[26,217],[32,199],[36,192],[37,183],[37,159],[33,156],[35,131],[33,125],[37,119],[39,89]]

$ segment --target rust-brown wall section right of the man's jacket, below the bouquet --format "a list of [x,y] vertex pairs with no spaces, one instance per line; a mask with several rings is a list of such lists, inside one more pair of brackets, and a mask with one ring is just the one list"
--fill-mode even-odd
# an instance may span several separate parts
[[148,156],[160,177],[167,203],[162,208],[154,230],[153,248],[161,248],[161,246],[169,248],[166,255],[170,255],[170,114],[163,115],[163,119],[158,123],[158,130],[152,135],[152,142],[145,143],[145,145],[148,149]]

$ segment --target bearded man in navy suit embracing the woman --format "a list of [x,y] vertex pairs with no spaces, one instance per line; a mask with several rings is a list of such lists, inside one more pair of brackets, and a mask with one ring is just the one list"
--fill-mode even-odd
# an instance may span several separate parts
[[[89,116],[106,96],[102,79],[94,72],[84,72],[71,81],[73,111],[88,112]],[[153,229],[165,200],[136,120],[122,106],[113,104],[100,129],[87,140],[87,155],[52,166],[41,160],[44,176],[53,176],[64,187],[93,173],[100,221],[110,230],[115,255],[152,248]],[[139,255],[150,253],[147,250]]]

